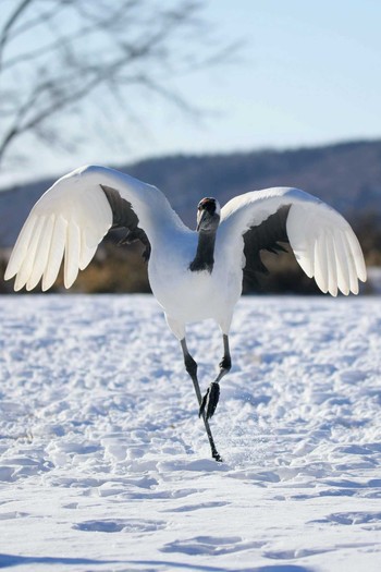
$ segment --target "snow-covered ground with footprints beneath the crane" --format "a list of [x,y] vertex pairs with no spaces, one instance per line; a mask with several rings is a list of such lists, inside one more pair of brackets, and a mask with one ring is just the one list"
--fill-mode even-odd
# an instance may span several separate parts
[[[150,296],[0,299],[0,568],[381,570],[381,300],[246,297],[209,457]],[[189,328],[202,390],[222,355]]]

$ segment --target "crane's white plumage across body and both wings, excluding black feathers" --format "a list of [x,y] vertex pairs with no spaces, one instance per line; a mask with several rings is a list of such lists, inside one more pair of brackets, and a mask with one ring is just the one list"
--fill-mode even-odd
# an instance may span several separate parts
[[112,226],[112,210],[100,184],[118,190],[135,210],[151,244],[152,292],[180,339],[186,322],[206,318],[214,318],[223,332],[229,331],[242,291],[243,234],[282,205],[291,205],[286,230],[296,259],[323,292],[356,294],[358,279],[366,280],[362,253],[349,224],[303,191],[269,188],[230,200],[221,210],[212,272],[192,272],[188,266],[198,235],[182,223],[158,188],[119,171],[84,167],[57,181],[30,211],[5,271],[5,279],[16,276],[15,290],[24,285],[32,290],[40,279],[42,290],[49,289],[63,257],[64,284],[72,285]]

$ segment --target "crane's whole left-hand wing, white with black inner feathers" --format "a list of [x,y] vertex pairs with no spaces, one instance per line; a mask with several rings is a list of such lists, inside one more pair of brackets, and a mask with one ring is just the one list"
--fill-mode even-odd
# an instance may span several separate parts
[[16,291],[24,285],[32,290],[42,278],[42,290],[48,290],[64,258],[64,285],[70,288],[113,226],[142,240],[149,257],[158,234],[182,222],[155,186],[113,169],[83,167],[59,179],[33,207],[4,278],[16,276]]

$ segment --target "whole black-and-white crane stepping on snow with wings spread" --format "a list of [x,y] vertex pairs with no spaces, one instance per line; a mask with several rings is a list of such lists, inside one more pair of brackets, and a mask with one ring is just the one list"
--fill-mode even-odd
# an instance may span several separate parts
[[[112,227],[125,227],[127,242],[145,245],[152,292],[179,339],[195,387],[212,457],[221,461],[209,426],[231,368],[229,330],[242,293],[244,271],[262,271],[262,250],[294,255],[323,292],[358,293],[366,280],[361,248],[346,220],[318,198],[276,187],[239,195],[220,208],[216,198],[198,204],[197,229],[189,230],[155,186],[105,167],[82,167],[59,179],[32,209],[12,252],[5,279],[14,289],[42,290],[54,282],[64,258],[70,288]],[[197,363],[188,352],[185,326],[213,318],[223,338],[219,374],[204,398]]]

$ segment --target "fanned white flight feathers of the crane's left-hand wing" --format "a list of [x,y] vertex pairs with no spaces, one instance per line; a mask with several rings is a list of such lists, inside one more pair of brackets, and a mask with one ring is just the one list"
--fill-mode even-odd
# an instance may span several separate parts
[[[64,256],[64,285],[70,288],[91,260],[112,224],[112,211],[102,190],[60,179],[36,203],[13,248],[5,280],[14,289],[32,290],[42,278],[42,290],[54,282]],[[85,180],[86,181],[86,180]]]

